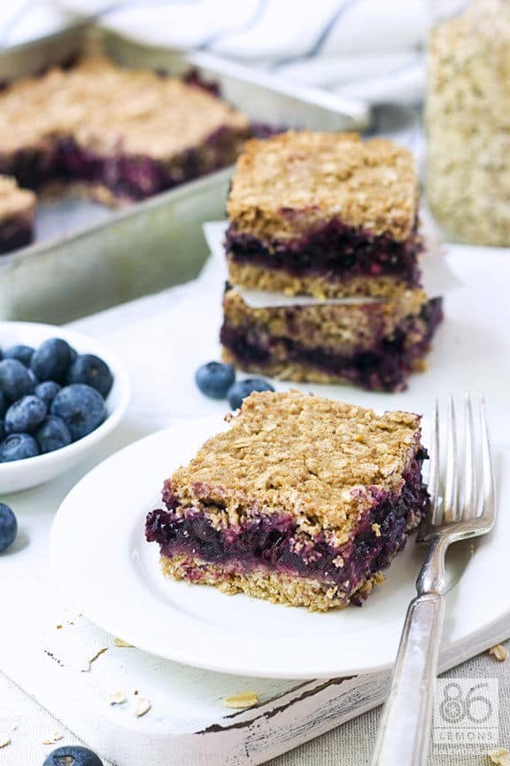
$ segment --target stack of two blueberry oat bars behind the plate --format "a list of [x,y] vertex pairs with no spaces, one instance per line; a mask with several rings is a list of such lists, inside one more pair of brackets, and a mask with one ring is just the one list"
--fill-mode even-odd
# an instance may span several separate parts
[[[383,391],[406,388],[424,369],[442,305],[421,288],[418,184],[406,148],[309,131],[251,139],[228,217],[227,362]],[[315,300],[252,308],[245,290]]]

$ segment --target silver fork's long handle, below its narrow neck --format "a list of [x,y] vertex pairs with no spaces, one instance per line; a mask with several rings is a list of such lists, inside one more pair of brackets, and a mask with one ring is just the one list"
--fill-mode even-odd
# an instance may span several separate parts
[[372,766],[427,763],[443,619],[439,593],[417,596],[407,609]]

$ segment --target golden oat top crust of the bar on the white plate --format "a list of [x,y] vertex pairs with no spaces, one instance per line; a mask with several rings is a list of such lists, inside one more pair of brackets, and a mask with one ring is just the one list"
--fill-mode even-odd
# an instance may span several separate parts
[[277,507],[347,535],[374,489],[401,489],[419,440],[412,413],[376,415],[298,391],[255,393],[169,484],[183,505],[217,504],[233,520],[242,507]]

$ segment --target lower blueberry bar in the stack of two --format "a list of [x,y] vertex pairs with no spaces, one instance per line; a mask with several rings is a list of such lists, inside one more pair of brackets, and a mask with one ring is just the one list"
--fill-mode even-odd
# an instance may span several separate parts
[[440,298],[421,290],[395,301],[319,302],[253,309],[236,288],[223,298],[223,358],[245,371],[377,391],[406,389],[443,317]]

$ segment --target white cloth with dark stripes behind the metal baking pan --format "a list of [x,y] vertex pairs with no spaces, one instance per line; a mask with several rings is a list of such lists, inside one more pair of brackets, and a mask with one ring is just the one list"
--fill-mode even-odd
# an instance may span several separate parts
[[[442,0],[459,4],[460,0]],[[437,0],[436,0],[437,3]],[[0,45],[73,14],[144,43],[210,51],[372,103],[421,98],[428,0],[11,0]]]

